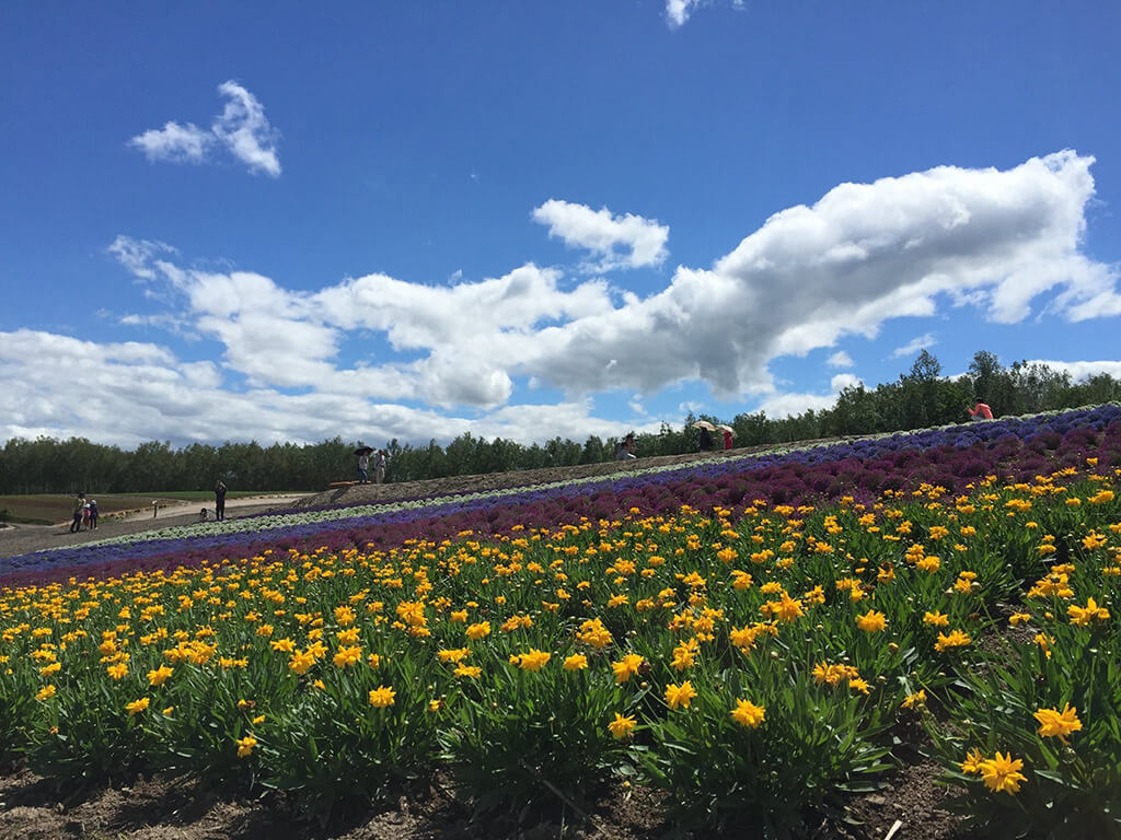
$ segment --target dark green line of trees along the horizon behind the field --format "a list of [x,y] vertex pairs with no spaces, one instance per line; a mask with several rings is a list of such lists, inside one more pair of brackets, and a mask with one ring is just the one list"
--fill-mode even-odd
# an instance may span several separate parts
[[[973,356],[963,376],[949,379],[942,375],[938,360],[923,351],[898,380],[874,389],[845,388],[832,408],[786,418],[759,411],[730,421],[691,413],[679,429],[663,423],[657,433],[637,435],[637,452],[641,457],[696,451],[700,432],[692,423],[698,419],[728,422],[735,446],[745,447],[963,422],[969,419],[966,407],[978,400],[986,402],[997,417],[1076,408],[1121,400],[1121,381],[1103,373],[1074,382],[1066,371],[1025,362],[1006,367],[986,351]],[[386,480],[595,464],[614,457],[617,440],[593,435],[580,444],[556,437],[525,446],[470,432],[447,446],[436,440],[427,446],[402,445],[393,439],[385,445],[389,454]],[[85,438],[12,438],[0,452],[0,494],[206,489],[219,478],[239,491],[319,489],[354,477],[355,446],[335,437],[302,446],[226,441],[179,449],[167,441],[149,441],[122,450]]]

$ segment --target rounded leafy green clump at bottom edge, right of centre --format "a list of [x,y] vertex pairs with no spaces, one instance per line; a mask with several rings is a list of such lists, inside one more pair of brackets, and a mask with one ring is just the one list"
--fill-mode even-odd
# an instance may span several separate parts
[[[806,672],[791,679],[769,657],[758,662],[749,671],[728,669],[712,683],[698,680],[688,709],[651,720],[654,746],[641,766],[669,794],[671,819],[682,824],[804,837],[823,812],[839,813],[844,792],[878,785],[889,766],[888,747],[877,743],[886,722],[879,707],[843,685],[818,684]],[[762,698],[758,726],[732,717],[738,700]]]

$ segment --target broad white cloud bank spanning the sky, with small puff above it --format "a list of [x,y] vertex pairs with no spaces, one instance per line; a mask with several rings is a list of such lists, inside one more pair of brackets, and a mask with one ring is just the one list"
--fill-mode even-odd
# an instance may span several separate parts
[[[293,440],[350,429],[353,439],[416,439],[418,429],[441,439],[469,429],[582,438],[622,426],[596,419],[592,395],[624,392],[641,429],[649,399],[686,382],[722,398],[750,396],[771,416],[825,408],[860,380],[837,373],[832,394],[784,394],[772,360],[830,349],[845,336],[872,338],[884,321],[954,307],[976,307],[993,320],[1111,312],[1121,300],[1115,268],[1080,251],[1091,164],[1059,152],[1008,170],[939,167],[843,184],[771,216],[711,267],[678,267],[660,290],[621,299],[605,279],[534,263],[481,280],[425,284],[371,273],[293,290],[252,271],[202,271],[170,245],[119,236],[112,255],[146,295],[166,300],[166,311],[126,316],[129,323],[148,330],[174,324],[197,336],[196,356],[214,361],[180,360],[154,344],[0,334],[0,376],[16,383],[0,398],[0,433],[102,429],[100,439],[127,442],[127,430],[164,439],[163,412],[183,418],[174,426],[187,439],[241,430],[260,438],[261,429]],[[564,202],[538,213],[555,235],[600,259],[650,264],[664,249],[665,228],[637,216],[627,227],[627,216]],[[921,336],[900,355],[932,340]],[[360,342],[369,349],[343,362],[341,348]],[[833,352],[827,364],[850,367],[852,360]],[[81,373],[55,381],[75,365]],[[82,382],[81,392],[72,381]],[[563,396],[515,405],[518,383]],[[704,410],[693,394],[685,399]]]

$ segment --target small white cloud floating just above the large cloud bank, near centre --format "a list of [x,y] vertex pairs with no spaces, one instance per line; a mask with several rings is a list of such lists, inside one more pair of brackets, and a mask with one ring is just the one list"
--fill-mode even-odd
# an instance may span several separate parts
[[669,227],[642,216],[613,216],[606,207],[593,211],[584,204],[550,198],[534,211],[532,217],[548,225],[549,236],[599,256],[594,271],[660,265],[667,255]]

